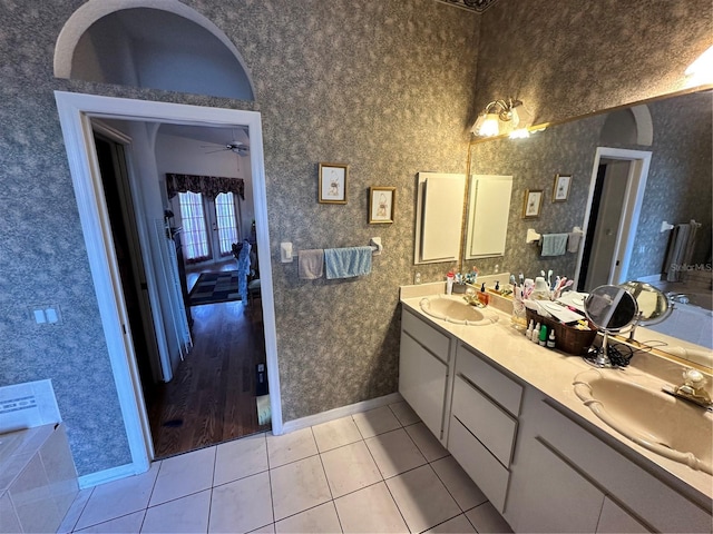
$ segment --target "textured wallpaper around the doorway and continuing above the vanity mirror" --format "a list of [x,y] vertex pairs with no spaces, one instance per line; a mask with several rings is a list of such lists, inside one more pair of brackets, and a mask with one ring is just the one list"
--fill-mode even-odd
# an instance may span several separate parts
[[[82,3],[57,0],[41,9],[22,0],[0,4],[0,384],[52,378],[79,473],[88,474],[121,465],[129,454],[52,90],[225,108],[246,105],[55,79],[57,36]],[[621,88],[638,87],[642,73],[649,81],[677,80],[677,62],[700,53],[707,39],[701,37],[705,17],[684,7],[704,3],[699,1],[661,2],[676,13],[673,19],[662,16],[662,8],[617,12],[612,2],[595,2],[606,3],[596,8],[600,18],[575,17],[576,23],[544,49],[533,46],[525,30],[556,27],[563,16],[592,2],[568,0],[556,9],[535,10],[528,4],[527,11],[517,11],[517,3],[499,0],[482,16],[432,0],[363,1],[358,9],[349,0],[185,3],[233,40],[257,91],[286,421],[395,390],[398,286],[417,270],[411,265],[414,175],[466,170],[466,130],[481,107],[476,93],[480,102],[494,92],[517,92],[522,85],[525,98],[541,97],[553,109],[563,106],[563,112],[608,108],[632,100]],[[516,17],[504,32],[500,19],[510,14],[507,6],[516,6]],[[481,21],[490,24],[484,42]],[[603,21],[664,27],[665,34],[656,33],[657,50],[649,40],[628,39],[625,46],[606,42],[584,51],[580,43],[599,36]],[[511,34],[518,27],[525,39]],[[575,60],[575,50],[586,53],[586,61]],[[476,83],[477,59],[484,53]],[[492,59],[524,53],[536,55],[537,61]],[[573,60],[563,63],[563,53]],[[594,59],[606,56],[595,62],[598,67],[616,59],[637,67],[598,69],[599,83],[593,85],[590,53]],[[665,92],[670,85],[654,83],[647,91]],[[553,90],[555,86],[559,89]],[[575,89],[590,98],[573,109]],[[316,202],[319,161],[350,164],[346,206]],[[370,185],[398,188],[393,225],[367,224]],[[373,235],[383,238],[385,251],[363,279],[305,283],[297,279],[296,265],[276,261],[281,240],[297,248],[329,247],[367,244]],[[441,279],[450,267],[418,270],[428,281]],[[33,326],[29,309],[40,304],[59,305],[64,323]]]

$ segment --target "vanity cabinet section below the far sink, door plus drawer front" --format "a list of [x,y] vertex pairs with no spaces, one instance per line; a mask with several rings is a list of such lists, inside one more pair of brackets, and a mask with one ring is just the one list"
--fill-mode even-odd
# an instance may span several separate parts
[[451,344],[449,336],[410,312],[402,312],[399,393],[441,443],[446,436]]

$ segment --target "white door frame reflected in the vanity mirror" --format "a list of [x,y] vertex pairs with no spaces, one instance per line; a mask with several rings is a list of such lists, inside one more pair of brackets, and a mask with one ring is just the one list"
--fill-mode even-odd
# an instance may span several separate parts
[[[589,194],[587,197],[587,209],[584,215],[584,238],[577,255],[577,268],[575,270],[575,287],[579,287],[579,275],[582,273],[582,258],[586,246],[589,216],[592,214],[592,200],[594,199],[594,188],[599,171],[599,161],[603,158],[621,159],[632,161],[628,176],[626,178],[626,191],[624,194],[624,206],[622,218],[616,233],[616,245],[612,258],[611,277],[608,284],[622,284],[626,281],[628,265],[632,260],[634,249],[634,238],[638,228],[638,217],[644,201],[646,180],[648,178],[648,167],[651,165],[652,152],[644,150],[628,150],[624,148],[597,147],[592,169],[592,180],[589,181]],[[617,265],[618,263],[618,265]]]

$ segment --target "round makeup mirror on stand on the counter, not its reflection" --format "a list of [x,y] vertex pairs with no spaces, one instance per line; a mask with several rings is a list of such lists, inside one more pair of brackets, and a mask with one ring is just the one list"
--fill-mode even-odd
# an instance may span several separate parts
[[[584,301],[584,313],[603,334],[602,346],[593,348],[585,359],[597,367],[615,367],[609,354],[608,335],[616,334],[636,323],[638,304],[622,286],[599,286]],[[625,365],[625,364],[624,364]]]

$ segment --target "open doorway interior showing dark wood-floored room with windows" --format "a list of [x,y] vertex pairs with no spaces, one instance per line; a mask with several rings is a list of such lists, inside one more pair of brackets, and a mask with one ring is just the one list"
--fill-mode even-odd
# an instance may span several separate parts
[[[221,161],[211,151],[206,152],[201,139],[225,135],[223,129],[214,132],[215,129],[180,129],[170,125],[166,128],[170,135],[164,135],[162,125],[154,148],[159,176],[164,169],[185,170],[186,156],[191,159],[188,170],[205,169],[203,175],[209,176],[186,175],[194,179],[180,180],[179,189],[186,191],[178,194],[174,189],[176,180],[167,180],[172,184],[170,190],[167,194],[160,189],[160,198],[157,198],[146,191],[140,180],[131,185],[126,171],[131,161],[124,158],[124,151],[131,151],[130,131],[136,125],[116,119],[91,122],[95,130],[100,128],[107,136],[109,130],[120,130],[115,135],[126,144],[113,142],[95,132],[131,340],[150,422],[154,457],[165,458],[268,429],[270,411],[261,408],[267,400],[268,388],[260,287],[251,291],[252,298],[247,301],[248,277],[251,284],[260,280],[255,227],[247,227],[244,234],[238,231],[242,225],[237,217],[242,211],[252,217],[253,201],[245,199],[243,178],[212,179],[217,174],[235,174],[235,160],[238,160],[238,174],[250,184],[250,162],[241,165],[240,157],[234,154],[226,155]],[[185,135],[185,131],[199,139],[176,135]],[[244,146],[248,146],[247,138]],[[141,162],[136,159],[134,165],[140,168]],[[137,168],[133,175],[145,176]],[[134,191],[133,195],[131,187],[144,194]],[[226,190],[217,192],[221,187]],[[235,195],[227,190],[231,188]],[[170,254],[164,254],[164,250],[153,255],[152,244],[140,243],[136,217],[145,219],[146,210],[140,205],[136,210],[133,196],[143,197],[145,202],[160,201],[167,208],[167,239],[160,235],[158,238],[169,241]],[[248,253],[255,251],[241,264],[243,247]],[[160,349],[156,350],[162,333],[155,330],[150,320],[141,250],[147,251],[156,265],[157,287],[154,289],[157,290],[154,294],[158,293],[159,298],[154,308],[162,310],[157,320],[166,325],[166,338],[160,340],[167,353],[164,362],[170,363],[169,368],[162,367],[157,354]],[[241,273],[241,265],[247,270]],[[172,295],[170,278],[175,275],[179,278],[180,290],[174,290],[173,298],[162,299],[162,289]],[[243,294],[240,291],[241,277],[245,286]],[[185,319],[176,320],[176,316],[184,313]],[[145,323],[143,317],[147,318]],[[178,337],[180,326],[187,336],[185,339]],[[159,372],[155,373],[157,367]]]

